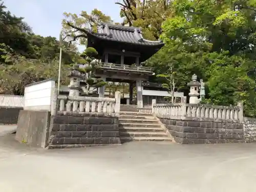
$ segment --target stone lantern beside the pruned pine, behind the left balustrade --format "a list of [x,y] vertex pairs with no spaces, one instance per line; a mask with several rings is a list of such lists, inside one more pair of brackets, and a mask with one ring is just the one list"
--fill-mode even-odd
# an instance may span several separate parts
[[78,66],[72,68],[68,77],[70,78],[69,96],[78,97],[82,90],[80,87],[80,80],[83,78],[83,75],[78,71]]

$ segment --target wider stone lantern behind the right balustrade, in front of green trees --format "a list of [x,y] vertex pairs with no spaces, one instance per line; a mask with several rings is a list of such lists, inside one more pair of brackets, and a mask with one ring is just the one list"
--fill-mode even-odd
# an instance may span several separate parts
[[197,104],[199,103],[199,99],[198,99],[198,96],[199,96],[199,87],[201,86],[201,83],[197,81],[197,75],[194,74],[192,76],[192,81],[190,81],[189,83],[187,83],[187,86],[190,87],[190,92],[189,92],[189,103],[192,103],[192,104]]

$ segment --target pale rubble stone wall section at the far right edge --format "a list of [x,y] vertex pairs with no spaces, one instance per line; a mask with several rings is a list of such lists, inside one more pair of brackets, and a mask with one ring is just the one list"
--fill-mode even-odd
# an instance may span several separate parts
[[244,140],[245,142],[256,141],[256,118],[244,117]]

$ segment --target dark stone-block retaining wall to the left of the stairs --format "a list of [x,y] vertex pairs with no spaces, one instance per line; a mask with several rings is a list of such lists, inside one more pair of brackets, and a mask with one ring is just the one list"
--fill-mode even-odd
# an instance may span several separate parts
[[50,130],[49,148],[120,144],[114,114],[58,112],[52,116]]

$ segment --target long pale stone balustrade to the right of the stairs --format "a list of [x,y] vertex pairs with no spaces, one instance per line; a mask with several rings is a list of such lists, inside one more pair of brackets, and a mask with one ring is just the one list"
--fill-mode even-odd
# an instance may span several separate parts
[[152,112],[160,118],[190,119],[210,118],[222,120],[243,121],[243,105],[219,106],[210,104],[188,104],[184,97],[181,103],[157,104],[152,103]]

